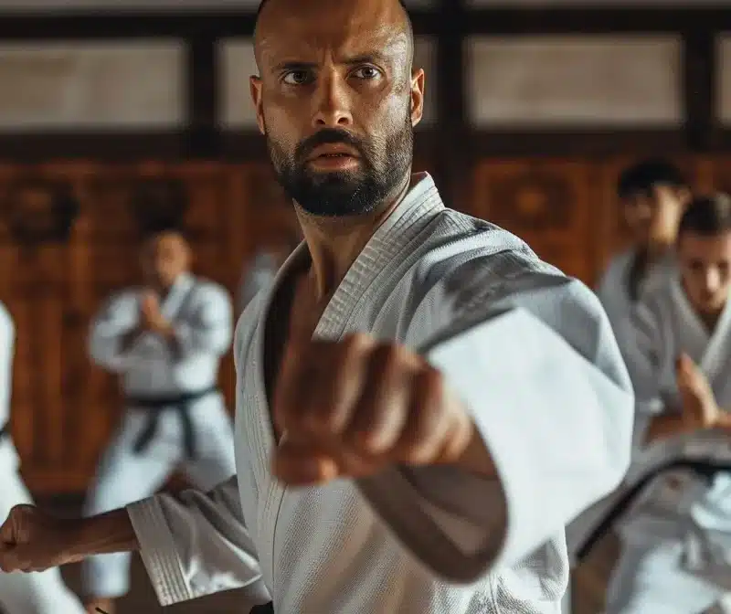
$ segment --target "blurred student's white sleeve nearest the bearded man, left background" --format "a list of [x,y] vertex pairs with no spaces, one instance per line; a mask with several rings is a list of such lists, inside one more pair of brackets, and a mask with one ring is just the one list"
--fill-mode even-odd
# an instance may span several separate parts
[[175,323],[177,358],[185,360],[194,354],[224,355],[233,336],[233,312],[228,293],[207,284],[196,295],[193,316]]

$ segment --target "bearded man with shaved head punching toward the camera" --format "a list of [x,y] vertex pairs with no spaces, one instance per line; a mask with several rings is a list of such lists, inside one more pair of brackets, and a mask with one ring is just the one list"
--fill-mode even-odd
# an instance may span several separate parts
[[411,175],[424,72],[397,0],[268,0],[255,39],[306,245],[238,323],[237,476],[69,524],[18,508],[0,566],[139,549],[163,604],[248,586],[277,614],[556,612],[564,526],[630,460],[606,314]]

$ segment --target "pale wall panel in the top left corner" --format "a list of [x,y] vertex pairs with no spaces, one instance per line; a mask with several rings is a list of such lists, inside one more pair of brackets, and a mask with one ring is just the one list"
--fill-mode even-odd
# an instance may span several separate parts
[[156,129],[185,122],[175,41],[0,46],[0,130]]

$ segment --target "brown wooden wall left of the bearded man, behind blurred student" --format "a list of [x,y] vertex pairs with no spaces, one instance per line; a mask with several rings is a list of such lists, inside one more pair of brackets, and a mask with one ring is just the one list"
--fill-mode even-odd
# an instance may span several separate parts
[[[75,196],[67,241],[24,247],[11,228],[4,196],[26,178],[60,182]],[[26,201],[34,219],[42,198]],[[139,282],[141,211],[180,206],[194,270],[232,295],[246,259],[296,220],[267,164],[6,165],[0,202],[0,299],[16,322],[12,432],[21,471],[34,492],[81,491],[121,409],[115,378],[90,365],[89,323],[111,292]],[[233,410],[231,353],[220,384]]]

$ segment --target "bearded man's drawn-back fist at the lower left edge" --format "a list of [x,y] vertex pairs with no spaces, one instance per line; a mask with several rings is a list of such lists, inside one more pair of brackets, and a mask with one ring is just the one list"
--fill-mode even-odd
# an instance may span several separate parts
[[44,571],[74,562],[68,551],[76,525],[43,513],[33,505],[16,505],[0,527],[0,569]]

